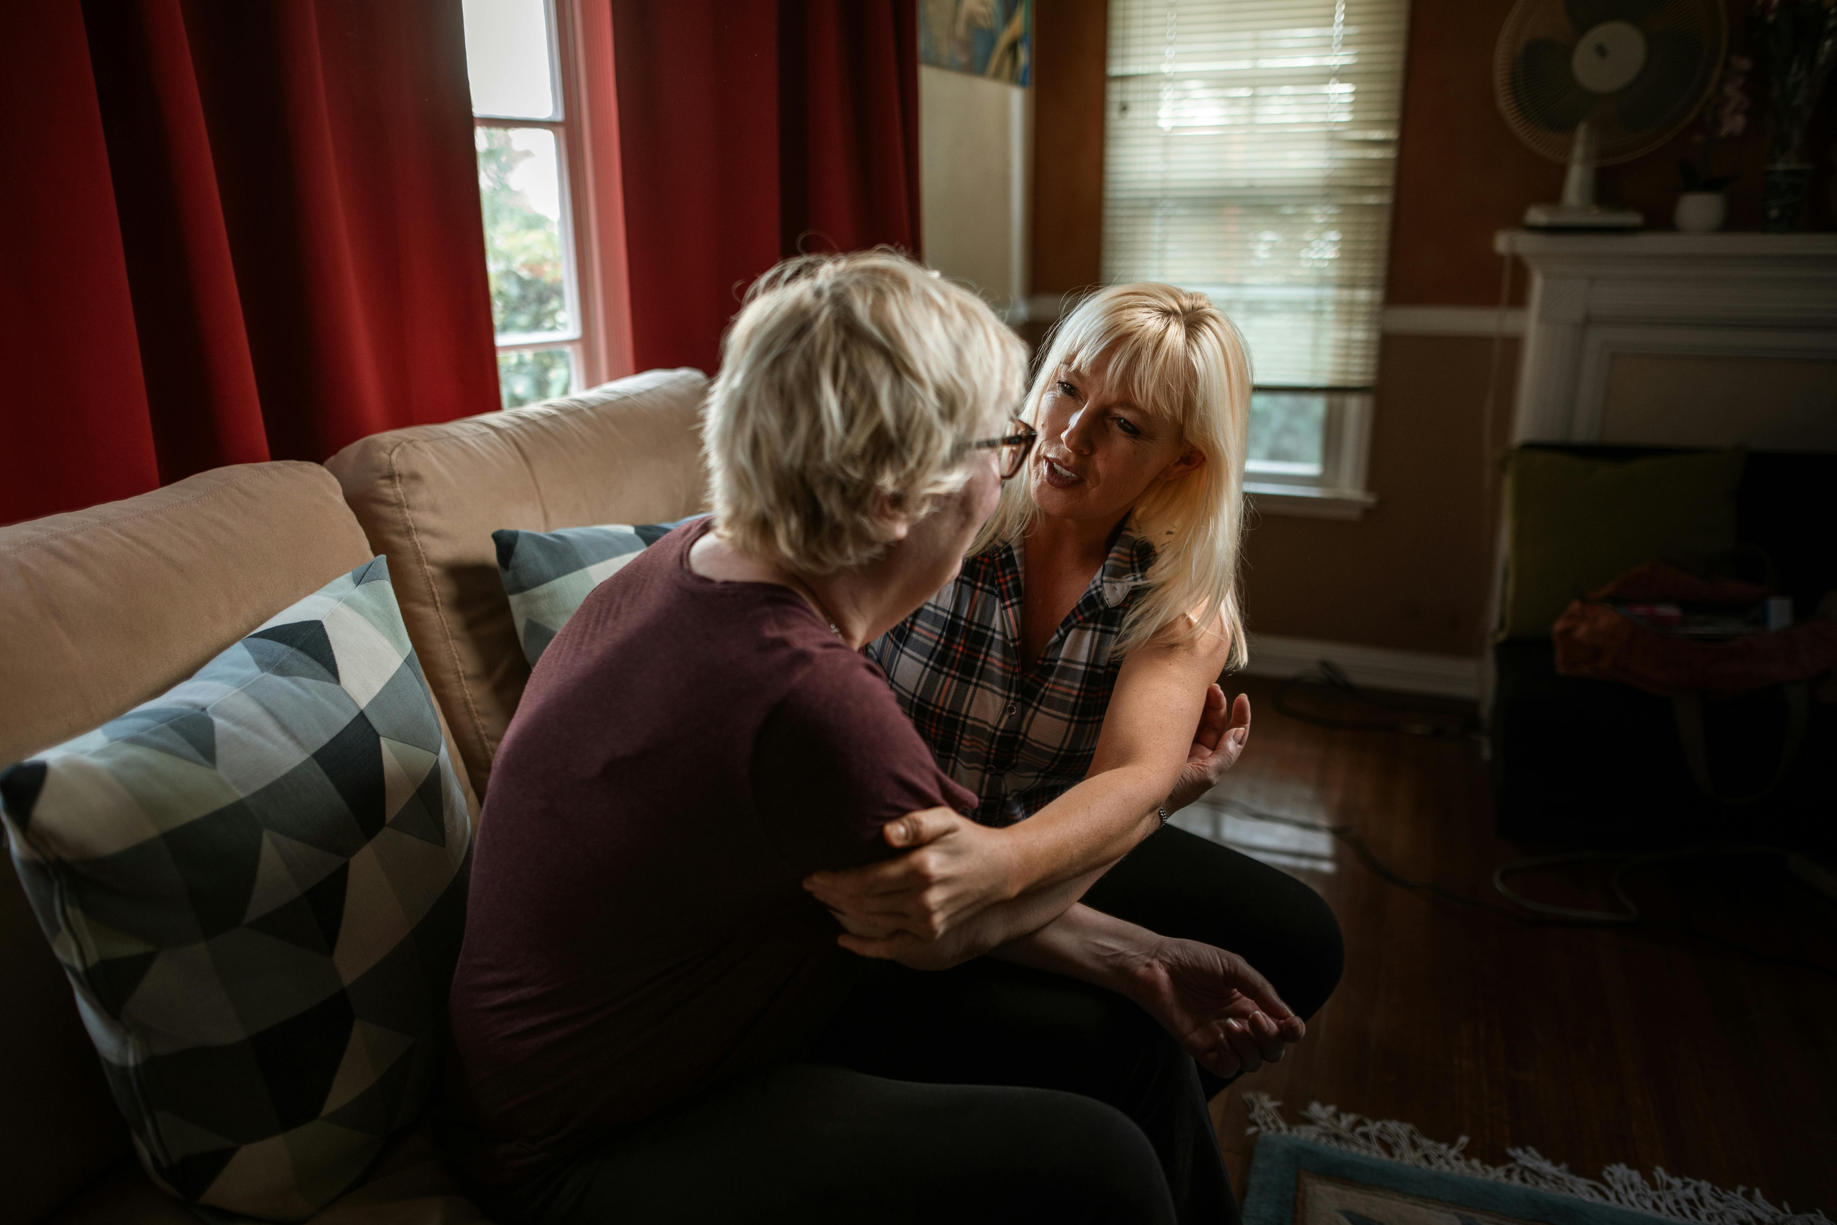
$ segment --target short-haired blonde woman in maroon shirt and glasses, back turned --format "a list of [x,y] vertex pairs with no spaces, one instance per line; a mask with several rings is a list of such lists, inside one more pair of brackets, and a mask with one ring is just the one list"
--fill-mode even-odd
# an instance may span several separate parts
[[801,887],[977,806],[860,648],[1020,472],[1023,378],[986,305],[891,253],[748,294],[713,516],[586,599],[498,751],[445,1129],[494,1221],[1234,1219],[1194,1060],[1299,1032],[1240,959],[1018,889],[913,959],[957,968],[889,1041],[882,966]]

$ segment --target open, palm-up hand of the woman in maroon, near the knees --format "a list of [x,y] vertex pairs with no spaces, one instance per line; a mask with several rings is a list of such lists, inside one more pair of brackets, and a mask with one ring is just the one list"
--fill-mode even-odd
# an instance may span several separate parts
[[1279,1062],[1308,1030],[1247,961],[1198,940],[1155,944],[1128,994],[1218,1076]]

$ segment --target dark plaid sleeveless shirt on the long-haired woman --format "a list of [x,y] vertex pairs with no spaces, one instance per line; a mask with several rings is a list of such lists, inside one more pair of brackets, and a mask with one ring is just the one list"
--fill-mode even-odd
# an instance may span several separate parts
[[1021,659],[1021,555],[997,545],[867,645],[939,766],[1012,825],[1084,779],[1122,661],[1111,646],[1154,564],[1128,527],[1040,654]]

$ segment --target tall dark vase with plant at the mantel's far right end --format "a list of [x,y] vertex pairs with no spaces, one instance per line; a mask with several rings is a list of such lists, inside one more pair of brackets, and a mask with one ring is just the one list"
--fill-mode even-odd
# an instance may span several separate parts
[[1764,226],[1795,230],[1811,184],[1806,123],[1837,55],[1837,0],[1754,0],[1749,29],[1771,127],[1760,197]]

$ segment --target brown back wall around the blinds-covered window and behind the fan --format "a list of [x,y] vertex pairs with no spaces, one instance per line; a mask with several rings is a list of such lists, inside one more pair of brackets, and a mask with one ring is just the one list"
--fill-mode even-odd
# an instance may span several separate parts
[[[1493,231],[1525,206],[1556,200],[1563,167],[1525,149],[1492,96],[1492,53],[1512,0],[1414,0],[1403,81],[1396,211],[1385,298],[1392,305],[1490,307],[1499,301]],[[1730,13],[1743,11],[1730,0]],[[1099,277],[1102,239],[1104,0],[1038,0],[1034,292]],[[1736,22],[1736,44],[1743,33]],[[1730,228],[1760,224],[1764,123],[1729,151],[1741,165]],[[1828,134],[1808,145],[1826,160]],[[1600,197],[1670,228],[1677,162],[1668,147],[1600,173]],[[1826,162],[1828,167],[1828,162]],[[1826,171],[1820,171],[1819,184]],[[1819,187],[1815,193],[1822,195]],[[1826,202],[1811,213],[1828,224]],[[1523,268],[1514,268],[1523,301]],[[1486,463],[1510,421],[1517,343],[1497,356],[1493,430],[1482,428],[1493,342],[1385,336],[1380,351],[1369,487],[1358,522],[1268,514],[1245,551],[1251,628],[1403,650],[1473,654],[1486,639],[1486,588],[1497,489]]]

